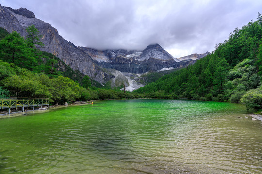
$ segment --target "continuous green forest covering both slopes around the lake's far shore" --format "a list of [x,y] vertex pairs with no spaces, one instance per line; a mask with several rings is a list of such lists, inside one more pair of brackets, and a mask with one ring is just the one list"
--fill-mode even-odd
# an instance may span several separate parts
[[[168,98],[226,101],[262,108],[262,16],[194,65],[164,75],[133,93],[92,87],[88,76],[73,71],[59,58],[38,48],[34,26],[23,38],[0,29],[0,98],[51,98],[53,102],[120,98]],[[93,82],[94,84],[95,82]]]

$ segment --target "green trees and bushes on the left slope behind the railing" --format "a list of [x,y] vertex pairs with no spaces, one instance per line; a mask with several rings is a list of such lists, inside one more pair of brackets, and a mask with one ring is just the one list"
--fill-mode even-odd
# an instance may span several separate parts
[[43,43],[33,25],[27,32],[28,36],[23,38],[17,32],[9,34],[0,28],[0,98],[50,98],[51,102],[60,104],[75,100],[135,98],[129,92],[92,87],[88,76],[38,49]]

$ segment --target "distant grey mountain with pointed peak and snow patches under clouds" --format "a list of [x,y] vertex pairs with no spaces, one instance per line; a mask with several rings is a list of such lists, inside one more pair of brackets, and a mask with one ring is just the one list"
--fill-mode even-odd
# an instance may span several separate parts
[[[159,44],[147,46],[143,51],[137,50],[105,50],[98,51],[92,48],[79,47],[88,54],[97,65],[103,68],[116,69],[121,72],[142,74],[147,71],[160,71],[168,68],[183,68],[196,62],[191,57],[183,60],[173,58]],[[206,56],[198,55],[198,59]]]

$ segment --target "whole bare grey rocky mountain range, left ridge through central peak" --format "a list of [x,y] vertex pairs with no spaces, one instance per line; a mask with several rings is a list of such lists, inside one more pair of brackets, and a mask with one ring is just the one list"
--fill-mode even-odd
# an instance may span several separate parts
[[[159,44],[149,45],[143,51],[77,47],[60,36],[49,23],[35,18],[33,12],[25,8],[14,10],[0,4],[0,27],[8,32],[17,31],[25,37],[26,28],[32,24],[42,35],[41,41],[45,45],[40,47],[42,51],[54,54],[73,70],[79,70],[103,85],[111,84],[111,87],[125,85],[135,89],[143,86],[135,81],[143,73],[183,68],[196,62],[193,58],[173,58]],[[207,53],[201,55],[206,56]]]

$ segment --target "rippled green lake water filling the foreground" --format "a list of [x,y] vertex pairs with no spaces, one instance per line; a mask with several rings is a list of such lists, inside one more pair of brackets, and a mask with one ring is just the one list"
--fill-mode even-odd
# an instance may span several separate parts
[[262,122],[245,116],[240,104],[141,99],[3,118],[0,174],[262,174]]

